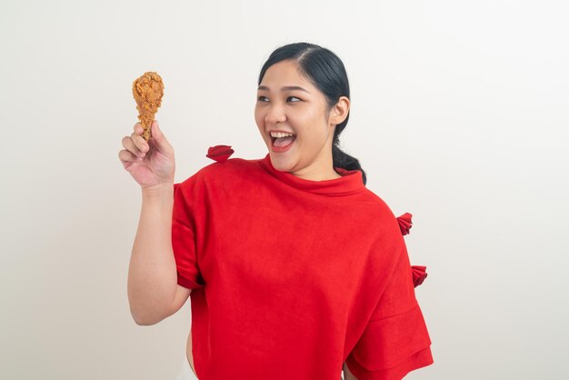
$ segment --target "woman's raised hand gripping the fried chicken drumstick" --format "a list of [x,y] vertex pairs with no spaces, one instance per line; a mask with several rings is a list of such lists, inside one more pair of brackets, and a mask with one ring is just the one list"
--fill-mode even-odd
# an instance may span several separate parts
[[118,157],[125,170],[143,190],[174,184],[174,148],[156,120],[152,123],[152,137],[148,142],[143,138],[143,132],[142,125],[136,123],[135,132],[123,137],[125,149],[118,153]]

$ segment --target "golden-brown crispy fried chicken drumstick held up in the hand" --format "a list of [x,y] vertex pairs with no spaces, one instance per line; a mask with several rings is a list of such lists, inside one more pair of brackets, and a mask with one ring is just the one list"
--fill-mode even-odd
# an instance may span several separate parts
[[145,128],[143,137],[150,138],[150,126],[155,119],[156,111],[162,104],[164,84],[162,78],[155,72],[147,72],[133,82],[133,95],[135,95],[138,120]]

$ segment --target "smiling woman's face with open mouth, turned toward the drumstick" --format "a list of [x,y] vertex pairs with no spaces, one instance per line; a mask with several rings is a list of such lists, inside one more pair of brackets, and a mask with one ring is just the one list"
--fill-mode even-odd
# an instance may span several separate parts
[[[277,170],[315,181],[338,177],[332,161],[338,124],[332,123],[333,117],[324,94],[298,73],[294,61],[281,61],[266,70],[257,90],[255,122]],[[294,134],[292,143],[275,147],[274,131]]]

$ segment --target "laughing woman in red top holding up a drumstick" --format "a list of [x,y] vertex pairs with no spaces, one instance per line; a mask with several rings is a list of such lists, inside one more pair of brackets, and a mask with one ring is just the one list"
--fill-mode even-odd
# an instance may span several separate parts
[[[154,325],[191,294],[187,361],[200,380],[401,379],[430,365],[398,220],[338,147],[350,92],[318,45],[279,47],[261,69],[264,158],[227,159],[174,184],[158,123],[119,157],[143,204],[128,275],[132,315]],[[183,368],[182,375],[189,375]]]

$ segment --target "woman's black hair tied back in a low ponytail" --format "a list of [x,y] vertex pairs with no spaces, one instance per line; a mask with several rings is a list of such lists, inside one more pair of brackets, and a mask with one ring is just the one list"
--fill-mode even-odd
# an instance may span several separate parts
[[[350,84],[342,60],[325,47],[305,42],[283,45],[275,49],[261,68],[258,85],[261,85],[265,72],[271,65],[284,60],[294,60],[300,73],[324,94],[328,111],[336,105],[340,96],[350,98]],[[338,146],[340,144],[339,135],[348,124],[349,118],[350,112],[348,111],[345,120],[335,126],[332,159],[334,167],[361,171],[365,185],[365,172],[360,162],[340,150]]]

